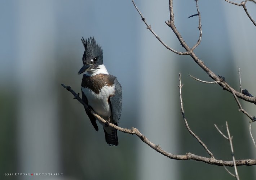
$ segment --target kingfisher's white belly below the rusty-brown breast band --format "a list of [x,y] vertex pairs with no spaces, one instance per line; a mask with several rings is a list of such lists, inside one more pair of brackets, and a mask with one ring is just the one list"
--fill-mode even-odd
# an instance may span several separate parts
[[108,100],[109,96],[114,95],[115,86],[103,86],[98,94],[86,87],[82,87],[82,91],[87,97],[88,105],[103,119],[107,120],[111,116],[111,108]]

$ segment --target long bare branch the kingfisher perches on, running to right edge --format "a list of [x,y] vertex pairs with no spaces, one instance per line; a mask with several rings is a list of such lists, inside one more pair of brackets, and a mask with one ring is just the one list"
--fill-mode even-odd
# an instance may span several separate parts
[[[81,104],[84,105],[85,108],[88,108],[88,105],[83,102],[83,100],[79,97],[79,95],[76,94],[75,91],[72,90],[70,86],[65,86],[64,84],[61,84],[61,85],[66,90],[70,91],[74,95],[74,97],[75,97],[74,99],[77,99]],[[99,121],[101,121],[103,123],[106,123],[106,121],[104,119],[102,119],[100,116],[98,116],[98,114],[96,114],[93,110],[91,111],[91,113]],[[126,128],[116,126],[112,123],[109,123],[109,126],[115,128],[116,130],[122,131],[124,133],[137,135],[144,143],[149,145],[149,147],[151,147],[152,149],[156,150],[157,152],[159,152],[163,156],[166,156],[170,159],[177,159],[177,160],[193,159],[195,161],[202,161],[202,162],[208,163],[210,165],[217,165],[217,166],[224,166],[225,165],[225,166],[231,166],[231,167],[234,166],[233,161],[222,161],[222,160],[218,160],[218,159],[215,159],[215,158],[207,158],[207,157],[203,157],[203,156],[197,156],[197,155],[192,154],[192,153],[186,153],[186,155],[177,155],[177,154],[168,153],[165,150],[163,150],[159,145],[153,144],[149,139],[146,138],[146,136],[141,134],[141,132],[138,129],[134,128],[134,127],[132,127],[132,129],[126,129]],[[241,159],[241,160],[235,161],[235,164],[237,166],[253,166],[253,165],[256,165],[256,159]]]

